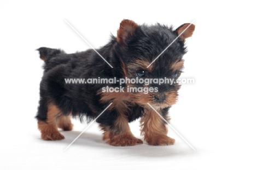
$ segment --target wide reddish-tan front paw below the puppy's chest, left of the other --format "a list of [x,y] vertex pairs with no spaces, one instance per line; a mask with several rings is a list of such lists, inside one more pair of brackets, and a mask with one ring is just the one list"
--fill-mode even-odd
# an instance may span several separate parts
[[138,139],[132,135],[113,136],[105,139],[105,141],[112,146],[133,146],[136,144],[143,144],[141,139]]

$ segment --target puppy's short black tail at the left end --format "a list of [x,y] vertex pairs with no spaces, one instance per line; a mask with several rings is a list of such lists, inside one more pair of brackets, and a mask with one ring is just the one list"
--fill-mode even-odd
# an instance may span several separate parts
[[45,62],[50,60],[50,58],[56,57],[58,54],[65,53],[64,51],[59,49],[50,49],[46,47],[41,47],[37,50],[39,51],[40,58]]

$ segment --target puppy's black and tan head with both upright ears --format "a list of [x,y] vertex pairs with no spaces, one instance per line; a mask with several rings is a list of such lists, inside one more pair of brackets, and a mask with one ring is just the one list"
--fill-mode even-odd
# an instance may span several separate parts
[[137,25],[131,20],[120,23],[117,55],[124,77],[137,80],[125,84],[134,102],[144,106],[149,103],[157,108],[176,103],[180,85],[173,82],[182,72],[185,39],[191,37],[194,30],[193,24],[183,24],[173,30],[160,24]]

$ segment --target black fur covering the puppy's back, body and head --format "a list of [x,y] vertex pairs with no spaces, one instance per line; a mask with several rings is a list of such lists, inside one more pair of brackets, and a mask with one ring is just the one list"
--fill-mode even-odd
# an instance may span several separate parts
[[[40,83],[37,120],[45,121],[47,119],[49,103],[56,104],[64,115],[72,113],[73,116],[79,115],[80,118],[86,116],[88,120],[96,118],[109,104],[100,102],[101,96],[98,95],[102,87],[108,84],[66,84],[65,78],[124,78],[121,61],[125,63],[125,66],[132,65],[135,60],[151,62],[177,36],[177,32],[172,30],[172,27],[169,28],[160,24],[138,26],[132,36],[126,38],[123,44],[112,36],[110,42],[97,51],[114,68],[104,62],[92,49],[75,54],[66,54],[59,49],[39,48],[40,58],[45,61],[45,65],[44,75]],[[170,65],[181,60],[185,52],[184,42],[178,38],[155,61],[154,70],[152,73],[147,73],[147,78],[170,78],[174,73],[170,69]],[[129,75],[131,75],[130,78],[136,78],[136,70]],[[113,84],[109,84],[109,86],[113,86]],[[159,92],[178,90],[176,85],[159,86],[152,84],[150,86],[158,87]],[[133,104],[129,107],[131,112],[126,113],[129,122],[144,114],[142,105]],[[166,119],[169,107],[162,109],[162,114]],[[104,126],[111,126],[117,116],[117,110],[106,110],[97,119],[97,122]]]

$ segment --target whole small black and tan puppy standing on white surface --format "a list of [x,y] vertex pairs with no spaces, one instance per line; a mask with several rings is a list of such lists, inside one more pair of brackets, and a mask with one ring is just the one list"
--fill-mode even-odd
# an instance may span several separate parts
[[[103,140],[108,144],[129,146],[143,143],[133,136],[128,124],[138,118],[141,118],[141,132],[149,145],[173,144],[175,140],[167,136],[166,122],[147,103],[168,121],[168,109],[177,101],[178,84],[145,85],[127,82],[121,85],[124,87],[123,92],[103,92],[103,87],[120,85],[68,84],[65,79],[177,79],[183,68],[185,39],[191,37],[195,29],[194,25],[188,26],[189,24],[184,24],[173,30],[172,27],[160,24],[148,26],[137,25],[131,20],[121,21],[117,37],[112,36],[107,45],[97,49],[113,68],[92,49],[66,54],[59,49],[39,48],[40,58],[45,62],[36,116],[42,139],[64,139],[57,127],[71,131],[71,115],[80,116],[80,119],[86,116],[88,120],[92,120],[112,103],[96,120],[103,131]],[[181,36],[173,42],[179,34]],[[127,92],[129,87],[153,87],[157,91],[146,94]]]

